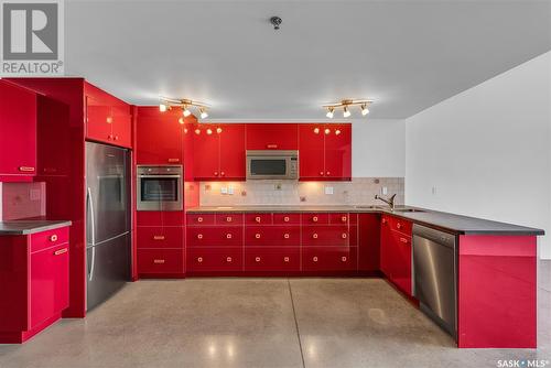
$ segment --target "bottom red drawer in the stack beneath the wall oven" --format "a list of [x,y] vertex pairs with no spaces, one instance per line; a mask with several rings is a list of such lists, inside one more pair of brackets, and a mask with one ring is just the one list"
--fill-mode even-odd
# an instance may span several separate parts
[[138,273],[183,273],[183,249],[138,249]]

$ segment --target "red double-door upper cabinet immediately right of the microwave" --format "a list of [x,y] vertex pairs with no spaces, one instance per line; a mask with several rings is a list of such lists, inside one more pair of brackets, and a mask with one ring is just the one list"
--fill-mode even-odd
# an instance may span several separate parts
[[352,178],[352,126],[300,125],[301,180]]

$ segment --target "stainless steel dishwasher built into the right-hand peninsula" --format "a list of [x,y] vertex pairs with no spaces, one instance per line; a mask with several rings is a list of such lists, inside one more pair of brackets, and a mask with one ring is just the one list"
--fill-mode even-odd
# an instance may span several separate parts
[[457,338],[455,235],[413,225],[413,280],[421,310]]

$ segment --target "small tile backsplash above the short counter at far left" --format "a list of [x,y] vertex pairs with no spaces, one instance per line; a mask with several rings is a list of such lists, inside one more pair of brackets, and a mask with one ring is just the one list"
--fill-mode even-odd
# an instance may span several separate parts
[[46,183],[0,183],[0,221],[46,215]]

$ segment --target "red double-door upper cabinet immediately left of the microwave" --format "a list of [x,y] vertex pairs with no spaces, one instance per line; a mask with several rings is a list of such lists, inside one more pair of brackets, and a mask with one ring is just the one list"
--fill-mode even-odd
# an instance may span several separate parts
[[195,180],[245,180],[245,125],[199,125],[194,138]]

